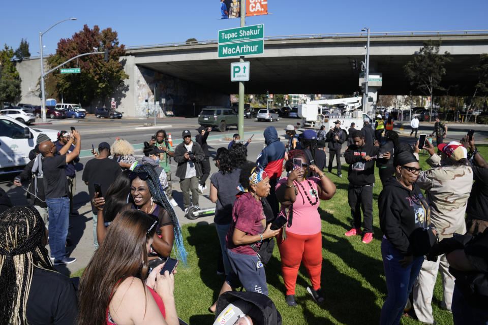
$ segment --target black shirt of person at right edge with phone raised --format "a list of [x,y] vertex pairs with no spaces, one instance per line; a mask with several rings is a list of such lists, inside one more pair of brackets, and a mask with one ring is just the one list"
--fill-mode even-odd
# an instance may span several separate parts
[[488,221],[488,168],[472,167],[474,184],[468,199],[468,219]]

